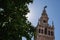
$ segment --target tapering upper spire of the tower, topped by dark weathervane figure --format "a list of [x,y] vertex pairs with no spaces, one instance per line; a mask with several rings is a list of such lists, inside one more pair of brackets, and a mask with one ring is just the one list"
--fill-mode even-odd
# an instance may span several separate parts
[[44,9],[43,9],[43,12],[42,12],[42,15],[41,15],[41,17],[40,17],[40,25],[42,25],[42,24],[46,24],[46,25],[48,25],[48,15],[47,15],[47,13],[46,13],[46,8],[47,8],[47,6],[44,6]]

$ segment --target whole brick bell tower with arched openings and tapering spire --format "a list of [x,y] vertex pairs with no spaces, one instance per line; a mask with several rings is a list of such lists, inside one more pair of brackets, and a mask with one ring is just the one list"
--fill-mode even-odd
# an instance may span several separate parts
[[42,15],[38,21],[35,40],[54,40],[54,25],[48,24],[49,17],[46,13],[46,7],[44,7]]

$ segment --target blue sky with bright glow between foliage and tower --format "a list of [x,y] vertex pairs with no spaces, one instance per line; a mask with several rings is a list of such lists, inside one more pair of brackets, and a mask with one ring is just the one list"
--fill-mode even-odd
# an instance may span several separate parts
[[28,20],[36,26],[45,5],[47,5],[49,24],[54,21],[55,40],[60,40],[60,0],[34,0],[33,4],[29,5]]

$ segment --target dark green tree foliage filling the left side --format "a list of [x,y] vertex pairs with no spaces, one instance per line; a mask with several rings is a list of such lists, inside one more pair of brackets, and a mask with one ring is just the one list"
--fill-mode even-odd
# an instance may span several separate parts
[[0,0],[0,40],[31,40],[34,27],[27,20],[33,0]]

